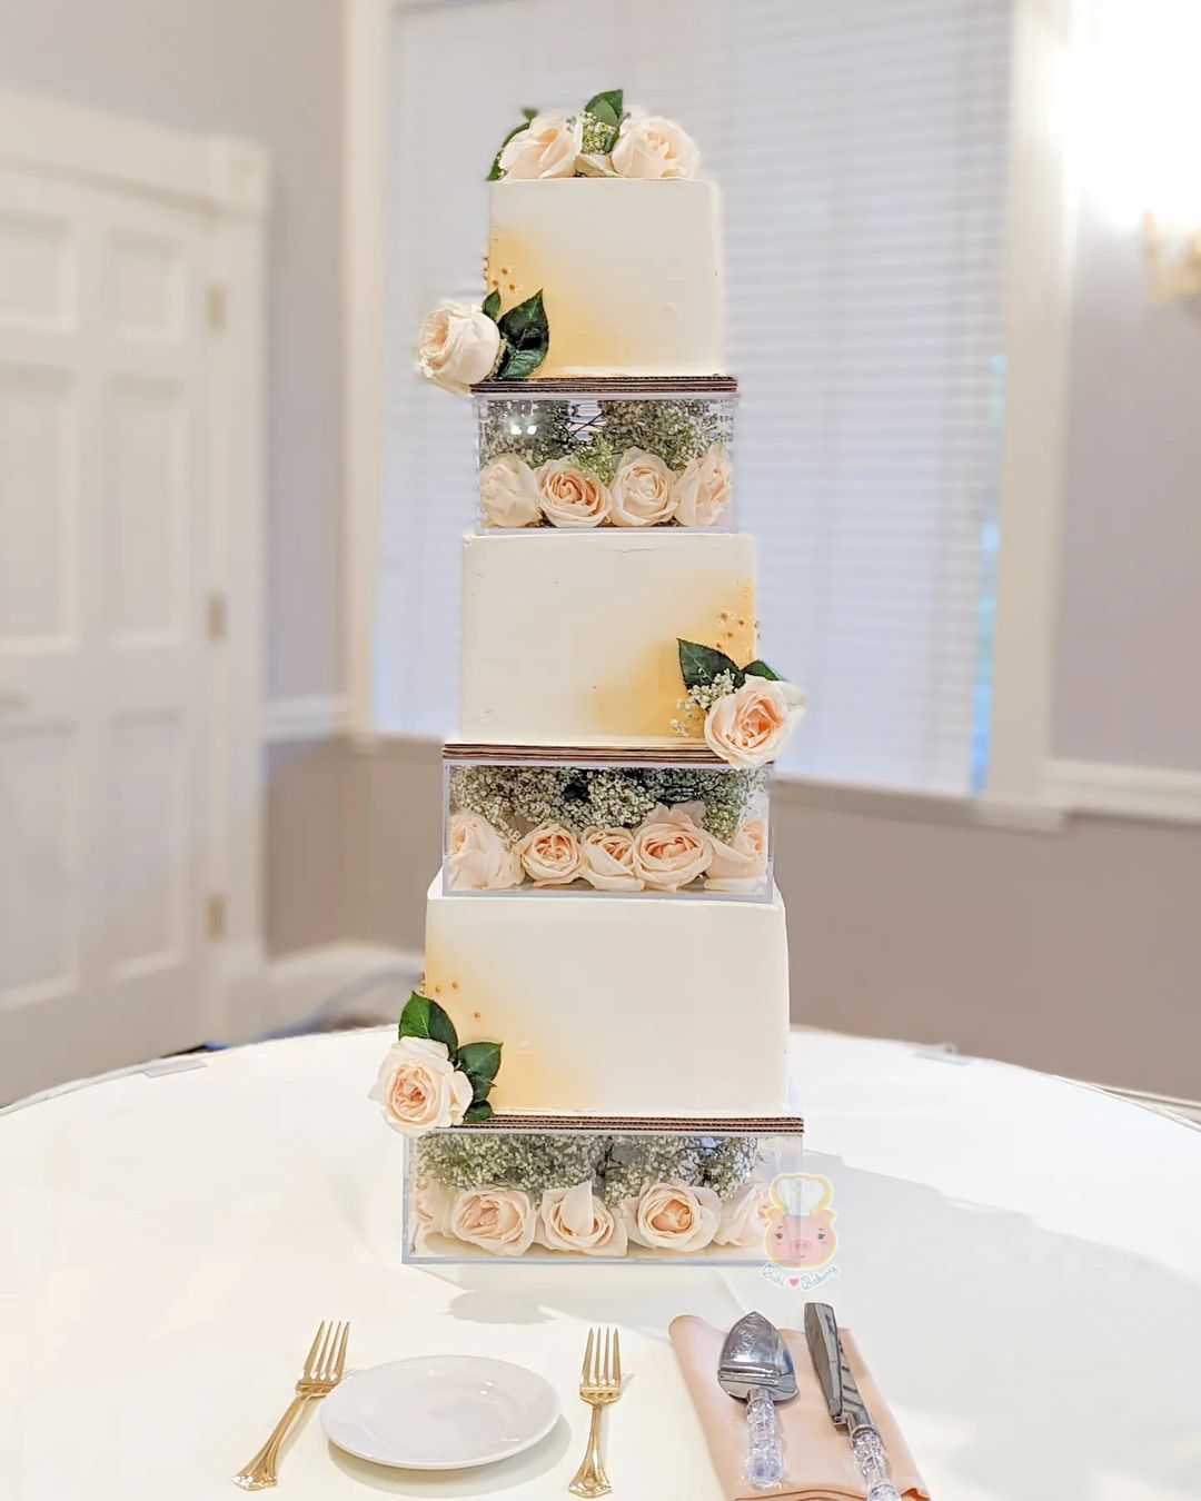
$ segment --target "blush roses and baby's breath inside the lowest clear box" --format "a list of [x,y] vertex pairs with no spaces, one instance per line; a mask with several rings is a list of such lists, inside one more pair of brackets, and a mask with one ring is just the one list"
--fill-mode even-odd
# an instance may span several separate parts
[[754,1136],[440,1133],[416,1150],[411,1192],[425,1232],[494,1256],[694,1255],[761,1240],[760,1174]]

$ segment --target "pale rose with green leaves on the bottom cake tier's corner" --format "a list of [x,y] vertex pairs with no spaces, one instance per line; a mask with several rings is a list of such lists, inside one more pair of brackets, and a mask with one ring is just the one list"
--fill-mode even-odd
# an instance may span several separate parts
[[414,991],[368,1099],[378,1102],[393,1130],[423,1136],[489,1120],[488,1096],[498,1069],[498,1042],[459,1043],[443,1007]]

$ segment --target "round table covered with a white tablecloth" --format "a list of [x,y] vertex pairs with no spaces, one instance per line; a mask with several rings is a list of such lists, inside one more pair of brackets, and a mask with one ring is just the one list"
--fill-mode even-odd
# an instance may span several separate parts
[[[401,1139],[365,1099],[380,1031],[177,1060],[0,1118],[0,1495],[233,1496],[323,1318],[369,1366],[462,1351],[546,1373],[563,1415],[494,1468],[380,1469],[309,1409],[291,1501],[566,1495],[585,1330],[619,1324],[614,1495],[718,1501],[667,1325],[803,1291],[755,1268],[399,1262]],[[850,1325],[935,1501],[1201,1490],[1201,1132],[1096,1090],[799,1031],[808,1171],[833,1183]]]

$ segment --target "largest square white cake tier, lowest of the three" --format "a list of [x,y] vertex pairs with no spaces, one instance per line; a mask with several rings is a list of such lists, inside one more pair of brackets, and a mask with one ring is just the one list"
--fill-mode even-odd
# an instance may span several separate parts
[[773,1115],[788,1099],[784,901],[429,887],[425,994],[503,1046],[497,1111]]

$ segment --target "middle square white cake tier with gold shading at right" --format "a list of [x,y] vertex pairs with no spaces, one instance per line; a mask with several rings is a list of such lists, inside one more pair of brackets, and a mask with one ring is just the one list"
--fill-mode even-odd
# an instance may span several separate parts
[[679,639],[755,656],[739,533],[530,531],[462,545],[459,734],[506,744],[688,744]]

